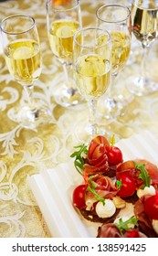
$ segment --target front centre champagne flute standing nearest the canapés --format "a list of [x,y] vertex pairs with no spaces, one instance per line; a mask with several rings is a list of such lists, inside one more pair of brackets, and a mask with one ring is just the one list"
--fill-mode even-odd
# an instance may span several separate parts
[[111,78],[111,37],[106,30],[90,27],[77,31],[73,47],[74,76],[80,93],[89,102],[90,119],[86,126],[78,126],[78,138],[87,141],[89,137],[105,134],[96,122],[97,101],[103,95]]

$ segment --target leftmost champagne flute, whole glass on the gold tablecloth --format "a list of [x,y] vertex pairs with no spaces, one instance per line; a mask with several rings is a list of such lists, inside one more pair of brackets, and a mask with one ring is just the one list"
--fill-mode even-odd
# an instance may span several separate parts
[[7,16],[1,21],[5,62],[10,74],[26,90],[27,104],[14,109],[18,123],[26,128],[51,121],[47,105],[38,106],[33,98],[34,81],[40,76],[42,57],[36,23],[25,15]]

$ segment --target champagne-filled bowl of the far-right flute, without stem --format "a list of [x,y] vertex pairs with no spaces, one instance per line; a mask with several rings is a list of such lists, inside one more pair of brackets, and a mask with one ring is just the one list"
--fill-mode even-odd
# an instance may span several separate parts
[[132,5],[132,31],[135,37],[148,46],[157,37],[158,1],[142,1]]

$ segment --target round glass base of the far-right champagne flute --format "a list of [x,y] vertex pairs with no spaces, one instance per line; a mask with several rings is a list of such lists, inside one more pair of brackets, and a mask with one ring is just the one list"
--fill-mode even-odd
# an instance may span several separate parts
[[127,84],[127,90],[137,96],[147,96],[158,91],[158,83],[148,78],[130,77]]

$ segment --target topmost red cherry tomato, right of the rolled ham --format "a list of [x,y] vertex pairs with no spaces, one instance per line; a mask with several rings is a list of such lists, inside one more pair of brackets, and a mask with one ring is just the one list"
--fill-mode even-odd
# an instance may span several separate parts
[[111,164],[119,165],[123,161],[121,149],[117,146],[110,146],[107,148],[108,161]]

